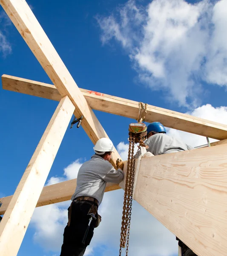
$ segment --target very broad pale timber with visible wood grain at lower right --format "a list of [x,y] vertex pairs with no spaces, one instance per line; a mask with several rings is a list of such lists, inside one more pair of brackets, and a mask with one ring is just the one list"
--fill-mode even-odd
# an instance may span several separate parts
[[134,199],[198,256],[227,252],[227,144],[141,159]]

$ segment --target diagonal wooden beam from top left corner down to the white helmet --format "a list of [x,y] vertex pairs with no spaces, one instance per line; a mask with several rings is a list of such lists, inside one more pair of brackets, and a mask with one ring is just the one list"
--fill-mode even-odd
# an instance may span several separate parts
[[[95,144],[100,138],[108,137],[26,1],[1,0],[0,4],[60,95],[62,97],[67,95],[72,101],[75,106],[75,116],[77,118],[83,116],[81,125],[92,143]],[[114,148],[111,163],[115,167],[118,158],[121,159]]]

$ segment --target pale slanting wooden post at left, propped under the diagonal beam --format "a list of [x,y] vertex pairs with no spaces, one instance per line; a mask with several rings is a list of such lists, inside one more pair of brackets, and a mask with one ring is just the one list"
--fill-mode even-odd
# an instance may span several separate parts
[[1,256],[16,256],[46,178],[72,117],[74,105],[61,99],[0,222]]

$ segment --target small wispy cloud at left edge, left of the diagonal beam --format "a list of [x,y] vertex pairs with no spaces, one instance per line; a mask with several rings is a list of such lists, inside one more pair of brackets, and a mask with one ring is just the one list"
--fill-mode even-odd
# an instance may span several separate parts
[[6,56],[12,52],[11,44],[7,40],[6,35],[4,35],[11,24],[11,20],[6,13],[3,11],[0,12],[0,52],[2,53],[3,58],[6,58]]

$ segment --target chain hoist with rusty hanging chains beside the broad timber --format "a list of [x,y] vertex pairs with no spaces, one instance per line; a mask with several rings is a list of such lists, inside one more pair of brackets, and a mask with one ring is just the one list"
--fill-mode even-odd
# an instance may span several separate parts
[[[120,238],[120,250],[119,256],[121,256],[121,248],[125,248],[126,243],[126,256],[129,250],[129,232],[132,214],[132,194],[134,186],[135,176],[135,159],[138,154],[134,156],[135,143],[139,143],[140,146],[146,146],[144,141],[147,137],[147,127],[144,123],[131,123],[129,125],[129,152],[126,171],[125,191],[124,191],[124,205],[122,212],[121,222],[121,238]],[[139,149],[138,149],[139,150]]]

